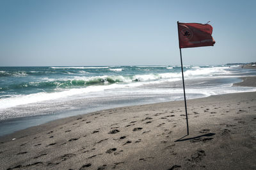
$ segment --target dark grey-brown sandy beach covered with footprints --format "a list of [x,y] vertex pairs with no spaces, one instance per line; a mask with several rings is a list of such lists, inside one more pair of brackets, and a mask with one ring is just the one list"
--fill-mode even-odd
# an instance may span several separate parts
[[256,92],[188,100],[188,113],[187,136],[184,101],[20,130],[0,138],[0,169],[256,169]]

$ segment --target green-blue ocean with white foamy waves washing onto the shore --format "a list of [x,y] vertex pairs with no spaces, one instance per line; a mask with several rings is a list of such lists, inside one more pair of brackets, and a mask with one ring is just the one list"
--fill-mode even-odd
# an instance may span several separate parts
[[[232,86],[256,70],[186,65],[186,97],[256,91]],[[47,121],[128,105],[184,100],[180,66],[0,67],[0,135]]]

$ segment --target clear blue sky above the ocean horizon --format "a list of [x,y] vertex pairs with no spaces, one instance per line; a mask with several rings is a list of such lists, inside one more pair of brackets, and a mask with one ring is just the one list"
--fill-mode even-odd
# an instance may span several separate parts
[[213,27],[185,65],[256,61],[256,1],[0,0],[0,66],[180,65],[177,20]]

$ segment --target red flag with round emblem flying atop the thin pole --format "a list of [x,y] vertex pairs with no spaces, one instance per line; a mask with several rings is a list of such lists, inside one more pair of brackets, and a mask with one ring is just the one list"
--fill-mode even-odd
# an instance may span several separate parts
[[209,24],[178,22],[179,46],[181,48],[213,46],[212,26]]

